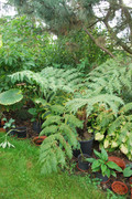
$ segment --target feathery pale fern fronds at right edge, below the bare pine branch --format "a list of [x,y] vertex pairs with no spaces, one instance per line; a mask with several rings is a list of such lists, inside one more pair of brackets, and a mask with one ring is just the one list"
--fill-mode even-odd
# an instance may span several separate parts
[[121,95],[123,88],[132,90],[132,64],[131,60],[124,62],[117,57],[92,70],[86,78],[86,86],[94,91],[101,87],[108,94],[118,93]]

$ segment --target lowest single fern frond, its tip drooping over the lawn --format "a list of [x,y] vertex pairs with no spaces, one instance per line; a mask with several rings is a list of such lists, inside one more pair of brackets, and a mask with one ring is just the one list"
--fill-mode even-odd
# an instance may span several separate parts
[[[64,146],[65,150],[58,146],[58,143]],[[58,166],[64,168],[66,157],[72,158],[72,147],[65,142],[59,134],[48,136],[41,145],[40,163],[42,172],[47,175],[58,170]]]

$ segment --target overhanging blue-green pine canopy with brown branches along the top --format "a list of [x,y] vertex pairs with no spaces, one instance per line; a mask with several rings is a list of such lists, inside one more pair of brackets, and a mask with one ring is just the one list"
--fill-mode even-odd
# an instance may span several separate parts
[[[20,13],[41,18],[46,29],[57,35],[67,35],[70,30],[84,30],[102,51],[114,56],[92,34],[100,22],[117,46],[132,54],[132,8],[122,0],[9,0]],[[113,22],[114,21],[114,25]],[[112,25],[111,25],[112,24]],[[120,35],[120,36],[119,36]]]

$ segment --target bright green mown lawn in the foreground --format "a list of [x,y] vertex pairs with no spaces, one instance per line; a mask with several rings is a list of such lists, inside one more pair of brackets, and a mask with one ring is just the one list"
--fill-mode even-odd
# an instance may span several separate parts
[[66,172],[43,176],[37,163],[38,147],[30,140],[9,140],[15,148],[0,148],[0,199],[106,198],[105,192],[89,184],[88,177]]

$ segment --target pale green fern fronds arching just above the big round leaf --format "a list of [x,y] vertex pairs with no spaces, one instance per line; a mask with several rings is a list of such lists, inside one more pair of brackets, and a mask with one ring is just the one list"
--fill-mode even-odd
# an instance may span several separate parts
[[35,84],[40,87],[40,91],[45,95],[50,91],[64,91],[73,93],[79,87],[81,83],[80,74],[76,70],[61,70],[54,67],[45,67],[42,72],[34,73],[32,71],[16,72],[9,75],[11,82],[26,82],[31,85]]

